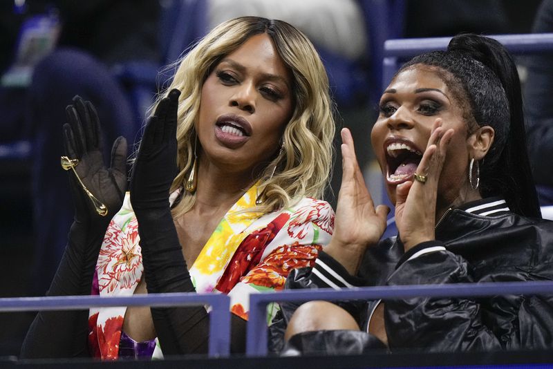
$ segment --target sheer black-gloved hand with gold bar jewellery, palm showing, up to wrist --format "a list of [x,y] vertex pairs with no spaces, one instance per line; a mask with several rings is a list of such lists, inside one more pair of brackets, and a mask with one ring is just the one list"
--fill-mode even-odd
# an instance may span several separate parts
[[120,209],[126,189],[126,140],[119,137],[113,142],[111,164],[106,168],[100,120],[91,102],[75,96],[73,104],[66,108],[66,116],[68,123],[63,129],[66,156],[78,160],[73,161],[76,176],[72,169],[69,170],[75,220],[109,223]]

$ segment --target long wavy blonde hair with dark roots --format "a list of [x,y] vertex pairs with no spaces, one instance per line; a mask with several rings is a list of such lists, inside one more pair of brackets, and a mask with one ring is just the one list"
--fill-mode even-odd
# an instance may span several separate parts
[[[181,91],[178,105],[178,175],[171,191],[184,187],[194,162],[194,124],[200,109],[205,79],[221,59],[254,35],[265,33],[272,39],[284,64],[293,75],[294,112],[283,133],[283,150],[262,171],[259,189],[263,203],[254,210],[268,213],[288,207],[304,197],[322,198],[332,166],[332,139],[335,133],[334,105],[328,93],[328,76],[317,51],[303,33],[284,21],[261,17],[231,19],[209,32],[172,67],[174,79],[165,88]],[[171,66],[169,66],[171,68]],[[276,166],[274,175],[272,169]],[[259,193],[261,193],[259,191]],[[196,199],[183,191],[173,209],[177,217],[187,212]]]

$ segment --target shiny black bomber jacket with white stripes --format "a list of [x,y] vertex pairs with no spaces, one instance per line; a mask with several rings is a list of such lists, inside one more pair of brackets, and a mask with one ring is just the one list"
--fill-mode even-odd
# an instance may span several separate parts
[[[382,240],[367,250],[357,276],[350,276],[337,261],[321,252],[315,267],[290,273],[286,288],[553,279],[553,222],[518,216],[500,198],[450,209],[438,222],[435,235],[435,241],[417,245],[407,253],[399,238]],[[338,304],[366,328],[377,303]],[[270,328],[270,350],[281,350],[283,330],[296,308],[294,303],[281,305]],[[386,301],[384,319],[392,351],[553,348],[553,293]]]

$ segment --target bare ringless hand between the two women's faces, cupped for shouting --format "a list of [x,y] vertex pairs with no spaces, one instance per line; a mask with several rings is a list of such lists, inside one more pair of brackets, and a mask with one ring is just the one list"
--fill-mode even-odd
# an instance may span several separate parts
[[375,207],[357,164],[350,131],[342,129],[341,138],[342,180],[335,229],[325,251],[350,274],[356,274],[366,248],[375,245],[384,234],[389,209],[385,205]]

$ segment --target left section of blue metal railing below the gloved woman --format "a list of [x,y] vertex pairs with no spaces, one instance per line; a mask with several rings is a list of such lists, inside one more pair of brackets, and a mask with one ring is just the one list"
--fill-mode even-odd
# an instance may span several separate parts
[[230,298],[225,294],[144,294],[127,297],[50,296],[0,299],[0,312],[84,310],[91,306],[189,306],[210,305],[209,357],[228,357],[230,352]]

